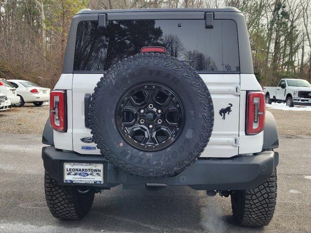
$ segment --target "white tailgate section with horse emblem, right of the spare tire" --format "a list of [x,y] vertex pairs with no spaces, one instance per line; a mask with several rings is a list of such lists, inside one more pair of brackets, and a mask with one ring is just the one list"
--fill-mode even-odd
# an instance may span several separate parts
[[[240,75],[201,74],[207,84],[214,105],[212,136],[201,157],[232,157],[239,153]],[[232,104],[232,112],[225,119],[219,114],[222,108]]]

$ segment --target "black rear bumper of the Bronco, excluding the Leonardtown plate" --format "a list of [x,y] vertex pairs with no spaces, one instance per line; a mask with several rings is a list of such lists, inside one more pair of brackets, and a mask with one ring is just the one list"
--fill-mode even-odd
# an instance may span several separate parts
[[64,152],[56,150],[52,146],[42,148],[42,159],[45,170],[60,185],[74,185],[64,183],[63,164],[66,162],[103,164],[104,184],[91,184],[103,189],[123,184],[124,188],[129,189],[145,188],[146,185],[186,185],[197,190],[245,190],[258,187],[272,174],[278,164],[278,153],[263,151],[253,156],[242,155],[226,159],[198,159],[178,175],[163,178],[132,176],[108,163],[103,156]]

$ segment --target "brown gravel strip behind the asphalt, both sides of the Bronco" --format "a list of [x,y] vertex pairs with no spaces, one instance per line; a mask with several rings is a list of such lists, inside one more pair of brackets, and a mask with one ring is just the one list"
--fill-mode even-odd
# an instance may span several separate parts
[[[267,110],[275,117],[280,135],[311,136],[311,111]],[[0,133],[41,134],[48,117],[49,105],[35,107],[29,103],[21,108],[12,108],[0,112]]]

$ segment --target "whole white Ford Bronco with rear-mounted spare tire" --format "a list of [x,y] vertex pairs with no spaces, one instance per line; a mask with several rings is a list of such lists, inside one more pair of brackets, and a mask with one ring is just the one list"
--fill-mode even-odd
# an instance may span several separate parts
[[276,123],[265,111],[236,8],[81,10],[42,142],[54,217],[79,219],[94,194],[186,185],[231,196],[236,221],[269,224]]

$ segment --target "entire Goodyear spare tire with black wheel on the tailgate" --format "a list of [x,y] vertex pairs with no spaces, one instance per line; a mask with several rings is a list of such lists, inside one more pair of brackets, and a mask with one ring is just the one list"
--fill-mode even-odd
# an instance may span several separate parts
[[200,156],[214,109],[206,84],[190,66],[140,53],[107,70],[91,96],[89,119],[107,160],[133,175],[163,177]]

